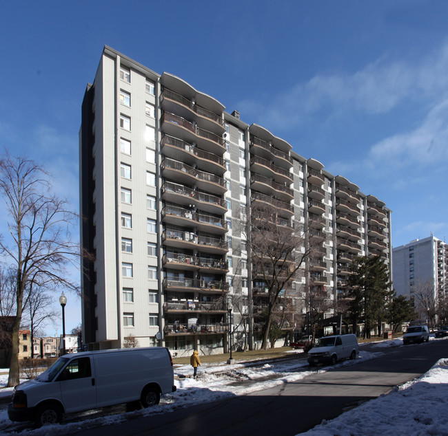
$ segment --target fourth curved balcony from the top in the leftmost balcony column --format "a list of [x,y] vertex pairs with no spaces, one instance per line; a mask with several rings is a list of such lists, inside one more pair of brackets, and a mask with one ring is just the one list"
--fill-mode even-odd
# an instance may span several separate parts
[[183,162],[165,157],[161,163],[163,177],[174,179],[176,182],[194,184],[199,189],[210,193],[223,195],[227,191],[225,179],[217,175],[199,171]]

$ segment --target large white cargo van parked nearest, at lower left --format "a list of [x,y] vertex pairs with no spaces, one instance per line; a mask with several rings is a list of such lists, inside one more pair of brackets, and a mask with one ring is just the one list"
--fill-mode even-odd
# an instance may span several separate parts
[[159,404],[176,391],[170,351],[164,347],[86,351],[60,357],[34,380],[14,388],[8,417],[38,426],[60,422],[63,413],[114,404]]

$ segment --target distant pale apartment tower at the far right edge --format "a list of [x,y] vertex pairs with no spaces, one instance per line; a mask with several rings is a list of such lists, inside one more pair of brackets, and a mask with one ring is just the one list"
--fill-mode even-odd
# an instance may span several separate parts
[[398,295],[412,296],[421,285],[430,285],[434,297],[447,292],[448,244],[430,236],[392,250],[392,279]]

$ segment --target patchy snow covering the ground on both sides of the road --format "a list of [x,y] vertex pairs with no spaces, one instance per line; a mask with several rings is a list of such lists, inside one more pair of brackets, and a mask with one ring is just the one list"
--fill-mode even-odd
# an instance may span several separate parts
[[[371,345],[375,349],[378,347],[378,351],[374,352],[364,351],[363,347],[361,347],[360,356],[356,361],[340,362],[336,367],[353,365],[358,362],[378,358],[383,354],[380,351],[381,348],[398,347],[400,345],[403,345],[403,340],[397,339],[376,342],[374,345]],[[198,378],[196,380],[192,378],[192,367],[190,365],[175,365],[174,374],[176,376],[177,391],[163,395],[159,406],[126,413],[116,411],[112,415],[101,415],[99,417],[98,411],[88,411],[79,414],[79,417],[76,416],[75,419],[65,419],[65,424],[60,426],[48,426],[41,429],[30,428],[23,430],[22,433],[27,435],[57,435],[79,431],[90,426],[116,424],[130,417],[167,413],[174,411],[176,408],[190,407],[194,404],[212,402],[225,397],[245,395],[262,389],[269,389],[279,384],[301,380],[316,371],[325,372],[327,370],[327,367],[308,370],[306,360],[299,354],[297,357],[298,359],[296,360],[283,362],[272,360],[272,362],[265,363],[261,367],[244,363],[234,365],[224,363],[203,364],[198,369]],[[323,432],[314,433],[316,435],[356,435],[365,434],[367,425],[370,426],[370,431],[367,433],[384,433],[385,435],[410,433],[448,436],[448,423],[446,420],[442,422],[442,417],[445,416],[445,408],[448,404],[448,400],[445,399],[448,386],[448,367],[446,365],[448,365],[448,359],[438,362],[431,371],[419,380],[402,386],[389,395],[380,397],[377,400],[371,400],[363,404],[363,406],[344,413],[333,421],[325,422],[310,431]],[[0,375],[0,387],[6,386],[7,382],[8,375]],[[0,395],[3,390],[0,389]],[[445,393],[445,397],[442,397],[442,391]],[[393,400],[390,400],[390,397],[393,397]],[[416,397],[418,397],[418,400]],[[372,412],[370,406],[372,402],[378,404],[375,405],[375,412]],[[400,402],[403,403],[403,406]],[[409,402],[409,405],[407,402]],[[411,404],[413,404],[412,407]],[[430,409],[429,415],[426,415],[427,409]],[[362,411],[363,417],[360,417],[359,411]],[[412,414],[413,411],[414,415]],[[396,422],[398,417],[400,418],[400,427],[397,430]],[[333,423],[336,425],[334,428],[332,427]],[[6,410],[1,410],[0,433],[2,429],[10,424]],[[389,433],[386,432],[388,426],[390,427],[387,430]],[[445,428],[442,428],[442,426],[445,426]],[[382,428],[382,430],[379,430],[379,428]],[[422,428],[425,428],[425,430],[422,430]],[[425,433],[429,428],[434,428],[435,432]],[[371,431],[372,429],[374,429],[374,432]],[[391,429],[394,429],[394,432]]]

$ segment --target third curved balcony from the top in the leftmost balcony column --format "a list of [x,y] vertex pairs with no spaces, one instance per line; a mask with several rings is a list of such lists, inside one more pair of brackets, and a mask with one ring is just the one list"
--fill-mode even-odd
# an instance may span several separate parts
[[214,153],[209,153],[198,149],[196,146],[189,144],[170,135],[164,135],[161,140],[163,154],[174,160],[185,162],[185,164],[197,165],[198,168],[210,173],[223,175],[226,171],[225,160]]

